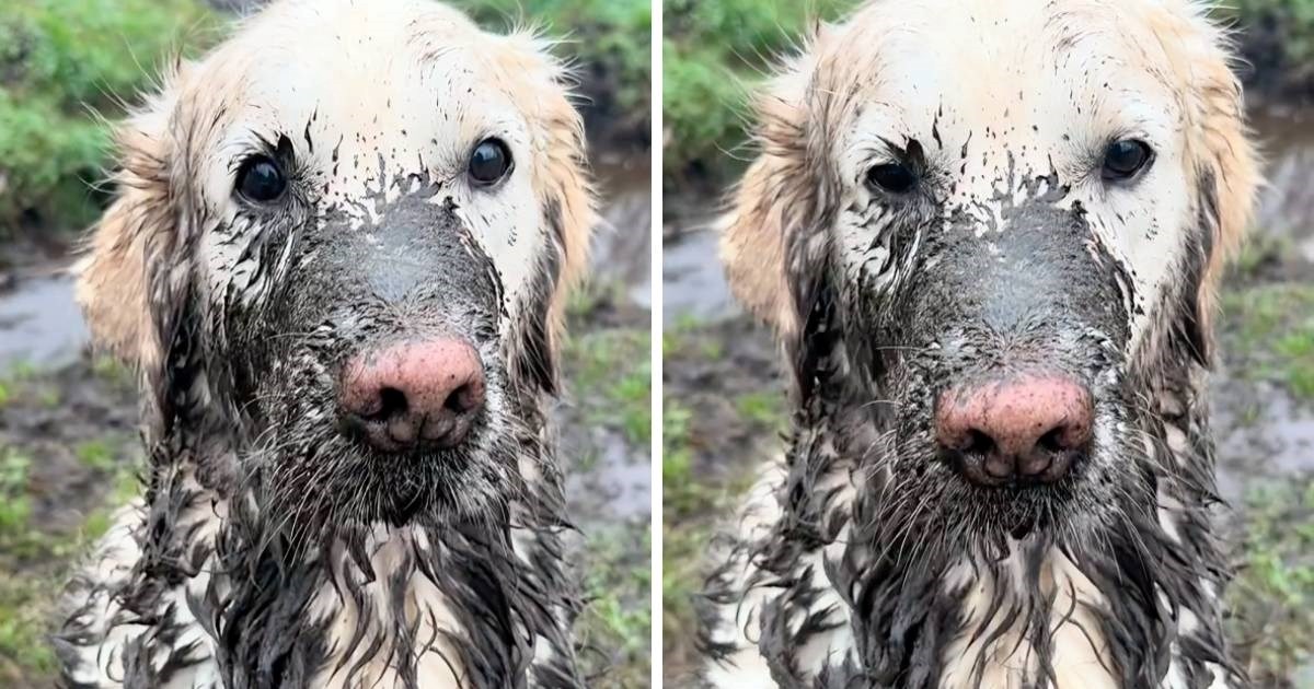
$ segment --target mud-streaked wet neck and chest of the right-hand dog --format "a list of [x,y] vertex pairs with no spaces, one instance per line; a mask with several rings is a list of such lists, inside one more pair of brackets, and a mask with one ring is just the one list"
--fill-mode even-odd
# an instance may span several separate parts
[[[917,499],[891,495],[865,466],[879,429],[848,378],[842,345],[829,344],[823,356],[796,357],[807,377],[796,378],[777,493],[783,517],[745,546],[761,567],[750,585],[778,589],[761,610],[758,643],[778,681],[1062,688],[1072,667],[1108,680],[1079,686],[1239,680],[1221,629],[1229,575],[1212,535],[1213,442],[1198,366],[1160,367],[1139,395],[1158,505],[1089,541],[1033,533],[930,559],[920,543],[941,534],[890,518],[891,501]],[[846,635],[848,652],[808,667],[809,640]]]

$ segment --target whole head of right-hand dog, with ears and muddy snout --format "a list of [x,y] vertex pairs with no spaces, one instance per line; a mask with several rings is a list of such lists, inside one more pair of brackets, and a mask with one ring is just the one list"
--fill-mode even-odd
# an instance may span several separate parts
[[1256,184],[1202,9],[871,3],[758,114],[732,287],[867,469],[972,539],[1152,511],[1142,421],[1208,361]]

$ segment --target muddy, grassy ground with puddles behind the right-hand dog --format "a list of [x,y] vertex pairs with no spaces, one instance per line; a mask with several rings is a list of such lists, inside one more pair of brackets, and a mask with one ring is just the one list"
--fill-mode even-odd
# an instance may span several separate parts
[[[1314,688],[1314,110],[1254,119],[1271,188],[1227,278],[1212,398],[1219,520],[1238,567],[1229,625],[1256,686]],[[668,196],[664,218],[662,651],[674,686],[695,654],[707,539],[786,429],[775,346],[731,299],[704,230],[711,206]]]

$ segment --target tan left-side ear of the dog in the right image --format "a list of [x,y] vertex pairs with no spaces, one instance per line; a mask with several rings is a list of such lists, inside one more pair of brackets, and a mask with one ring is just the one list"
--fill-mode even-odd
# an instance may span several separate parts
[[790,238],[807,230],[815,210],[808,168],[807,91],[811,56],[786,66],[754,105],[757,160],[731,197],[720,223],[721,262],[736,299],[782,340],[799,329],[788,283]]

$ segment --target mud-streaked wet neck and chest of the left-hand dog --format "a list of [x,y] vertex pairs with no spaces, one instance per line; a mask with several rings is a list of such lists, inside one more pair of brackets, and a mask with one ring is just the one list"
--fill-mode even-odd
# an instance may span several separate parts
[[[205,663],[209,651],[229,689],[582,685],[561,479],[536,407],[520,457],[505,458],[520,467],[514,501],[477,518],[326,524],[317,535],[261,511],[259,478],[238,469],[222,424],[189,404],[172,411],[150,424],[163,433],[124,592],[126,609],[164,627],[134,648],[137,667],[159,668],[162,655],[166,668]],[[201,643],[176,643],[197,640],[197,625]]]

